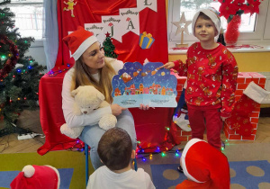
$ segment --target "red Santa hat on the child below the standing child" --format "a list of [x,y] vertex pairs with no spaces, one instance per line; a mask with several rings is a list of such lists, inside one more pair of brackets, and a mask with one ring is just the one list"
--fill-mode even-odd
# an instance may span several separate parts
[[206,141],[191,139],[187,142],[180,161],[184,175],[197,184],[195,188],[211,185],[210,188],[229,189],[228,159]]

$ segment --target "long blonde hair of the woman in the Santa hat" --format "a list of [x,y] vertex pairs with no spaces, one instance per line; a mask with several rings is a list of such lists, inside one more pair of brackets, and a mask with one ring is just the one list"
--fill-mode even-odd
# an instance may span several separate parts
[[80,85],[93,85],[97,90],[99,90],[104,96],[108,103],[112,103],[112,76],[116,73],[111,65],[105,58],[104,67],[100,68],[99,76],[100,80],[96,81],[91,75],[89,68],[82,61],[82,57],[76,60],[74,66],[74,74],[72,76],[72,84],[70,90],[76,89]]

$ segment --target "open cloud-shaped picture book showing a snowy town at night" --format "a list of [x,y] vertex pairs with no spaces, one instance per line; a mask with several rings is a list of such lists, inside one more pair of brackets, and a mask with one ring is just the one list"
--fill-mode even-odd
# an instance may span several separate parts
[[176,107],[177,79],[161,62],[126,62],[112,77],[113,103],[122,107]]

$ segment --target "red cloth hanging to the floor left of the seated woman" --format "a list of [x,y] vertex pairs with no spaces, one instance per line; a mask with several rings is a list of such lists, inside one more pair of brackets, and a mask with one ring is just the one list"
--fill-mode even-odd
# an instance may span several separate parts
[[62,112],[62,84],[64,73],[50,77],[47,74],[40,79],[40,123],[46,136],[45,144],[38,149],[40,155],[49,150],[72,148],[76,139],[70,139],[61,134],[60,127],[65,123]]

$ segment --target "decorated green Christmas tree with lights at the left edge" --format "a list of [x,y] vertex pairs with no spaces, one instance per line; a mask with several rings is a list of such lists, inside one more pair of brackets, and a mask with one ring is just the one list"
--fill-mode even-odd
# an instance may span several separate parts
[[46,67],[40,66],[33,58],[25,57],[33,38],[22,38],[18,28],[14,28],[14,13],[0,3],[0,121],[4,128],[0,137],[21,132],[16,120],[24,109],[39,107],[39,82]]

